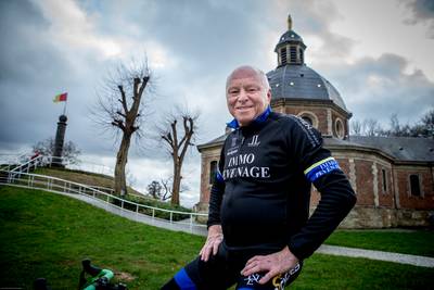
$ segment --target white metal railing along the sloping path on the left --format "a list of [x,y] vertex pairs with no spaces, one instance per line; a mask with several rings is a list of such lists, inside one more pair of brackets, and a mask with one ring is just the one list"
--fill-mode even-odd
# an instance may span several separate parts
[[[65,194],[79,194],[87,197],[90,200],[105,204],[105,210],[107,211],[113,209],[118,209],[123,213],[135,214],[136,219],[139,222],[143,223],[146,223],[146,220],[151,222],[146,224],[152,224],[168,229],[183,230],[199,235],[203,235],[204,230],[206,230],[206,225],[197,224],[195,223],[195,220],[197,217],[205,218],[207,214],[188,213],[188,212],[173,211],[173,210],[144,205],[137,202],[124,200],[119,197],[110,194],[102,190],[98,190],[87,185],[81,185],[78,182],[73,182],[52,176],[29,174],[23,172],[20,173],[20,175],[10,175],[10,172],[7,171],[0,171],[0,174],[1,173],[8,177],[0,176],[0,185],[41,189],[46,191],[65,193]],[[168,218],[167,219],[162,218],[159,217],[161,215],[164,215]],[[184,216],[184,218],[180,218],[179,222],[176,222],[174,219],[174,216],[176,215],[182,217]]]

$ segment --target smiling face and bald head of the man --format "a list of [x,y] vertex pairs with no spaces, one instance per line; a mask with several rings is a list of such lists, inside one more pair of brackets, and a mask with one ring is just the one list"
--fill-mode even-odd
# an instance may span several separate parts
[[231,115],[246,126],[267,109],[271,92],[255,71],[241,68],[230,76],[226,97]]

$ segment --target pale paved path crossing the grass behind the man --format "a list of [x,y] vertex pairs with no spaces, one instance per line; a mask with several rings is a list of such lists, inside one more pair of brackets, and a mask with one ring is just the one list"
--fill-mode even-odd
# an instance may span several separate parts
[[[59,192],[58,192],[59,193]],[[186,231],[199,236],[206,236],[206,228],[203,225],[197,225],[195,223],[190,223],[187,220],[174,222],[169,223],[166,219],[153,218],[152,216],[138,214],[128,210],[119,209],[113,204],[105,203],[101,200],[93,199],[87,196],[78,196],[78,194],[69,194],[69,193],[61,193],[64,196],[68,196],[78,200],[82,200],[87,203],[90,203],[97,207],[104,209],[105,211],[124,216],[128,219],[144,223],[148,225],[166,228],[170,230]],[[350,256],[350,257],[365,257],[370,260],[379,260],[386,262],[394,262],[400,264],[408,264],[420,267],[434,267],[434,257],[426,256],[418,256],[418,255],[409,255],[409,254],[399,254],[399,253],[391,253],[383,251],[373,251],[373,250],[363,250],[356,248],[346,248],[346,247],[336,247],[336,245],[321,245],[316,253],[321,254],[330,254],[330,255],[340,255],[340,256]]]

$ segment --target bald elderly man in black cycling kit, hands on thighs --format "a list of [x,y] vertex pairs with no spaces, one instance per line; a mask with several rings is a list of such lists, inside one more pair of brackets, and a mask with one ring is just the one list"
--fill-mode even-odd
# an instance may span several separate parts
[[[320,134],[271,112],[261,71],[234,70],[226,96],[233,131],[210,190],[208,237],[162,289],[283,289],[356,203]],[[309,217],[311,184],[321,200]]]

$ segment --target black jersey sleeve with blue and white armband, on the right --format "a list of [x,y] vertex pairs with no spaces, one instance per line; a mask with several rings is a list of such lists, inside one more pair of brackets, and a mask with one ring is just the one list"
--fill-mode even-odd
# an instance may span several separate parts
[[291,252],[303,260],[311,255],[333,232],[356,203],[356,194],[319,131],[299,118],[289,133],[291,155],[306,181],[321,194],[314,214],[289,241]]

